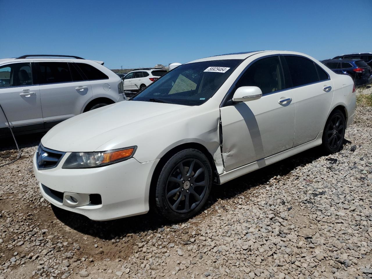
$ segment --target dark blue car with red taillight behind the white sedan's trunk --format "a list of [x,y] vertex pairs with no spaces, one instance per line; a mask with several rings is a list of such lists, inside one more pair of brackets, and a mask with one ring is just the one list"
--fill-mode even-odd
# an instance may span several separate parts
[[321,61],[336,74],[347,74],[354,80],[355,86],[370,84],[372,70],[363,60],[329,59]]

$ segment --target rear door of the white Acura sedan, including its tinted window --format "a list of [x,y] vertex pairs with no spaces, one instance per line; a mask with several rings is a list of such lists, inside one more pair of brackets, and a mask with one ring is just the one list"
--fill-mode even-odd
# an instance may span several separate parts
[[333,82],[327,72],[306,57],[283,55],[280,59],[285,75],[292,81],[288,92],[295,100],[295,147],[319,134],[333,100]]

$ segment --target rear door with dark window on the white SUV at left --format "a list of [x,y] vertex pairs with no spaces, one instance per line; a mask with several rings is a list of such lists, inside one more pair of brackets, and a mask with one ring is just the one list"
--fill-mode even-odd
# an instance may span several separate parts
[[38,62],[40,96],[46,128],[81,113],[93,97],[90,81],[72,62]]

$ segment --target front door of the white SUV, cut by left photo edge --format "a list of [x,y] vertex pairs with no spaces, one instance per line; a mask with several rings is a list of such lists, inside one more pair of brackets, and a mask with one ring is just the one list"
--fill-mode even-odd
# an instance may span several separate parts
[[[0,105],[13,131],[27,131],[44,127],[39,85],[33,78],[30,62],[0,66]],[[25,126],[27,125],[27,126]],[[0,110],[0,135],[9,134],[8,124]]]

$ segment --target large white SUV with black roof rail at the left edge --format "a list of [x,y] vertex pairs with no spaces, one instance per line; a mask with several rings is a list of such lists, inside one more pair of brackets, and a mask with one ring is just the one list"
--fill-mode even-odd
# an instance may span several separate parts
[[[54,58],[52,58],[54,57]],[[67,118],[124,100],[120,77],[101,61],[67,55],[0,60],[0,137],[50,129]]]

